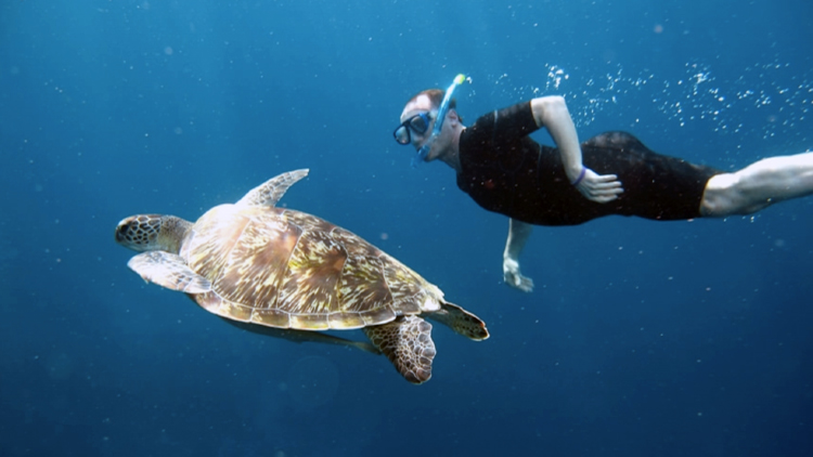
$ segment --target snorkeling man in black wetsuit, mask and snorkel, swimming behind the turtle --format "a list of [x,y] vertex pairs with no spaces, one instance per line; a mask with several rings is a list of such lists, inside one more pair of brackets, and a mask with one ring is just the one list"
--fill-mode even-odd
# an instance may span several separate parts
[[[511,218],[503,276],[526,292],[533,280],[521,274],[519,254],[532,225],[577,225],[609,214],[659,221],[750,214],[813,193],[812,152],[726,173],[654,153],[624,132],[579,144],[562,96],[494,110],[465,127],[451,99],[459,81],[460,76],[446,92],[413,96],[395,138],[418,151],[418,162],[446,162],[478,205]],[[557,147],[528,136],[542,127]]]

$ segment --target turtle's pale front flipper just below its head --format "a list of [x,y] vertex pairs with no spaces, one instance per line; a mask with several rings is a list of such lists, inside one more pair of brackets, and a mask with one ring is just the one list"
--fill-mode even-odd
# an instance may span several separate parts
[[130,259],[127,266],[142,279],[167,289],[186,293],[211,290],[211,283],[186,266],[186,262],[177,253],[147,251]]

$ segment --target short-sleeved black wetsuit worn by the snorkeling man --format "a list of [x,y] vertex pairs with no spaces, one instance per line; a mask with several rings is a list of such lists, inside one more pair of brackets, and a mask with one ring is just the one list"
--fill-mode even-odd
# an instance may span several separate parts
[[609,214],[697,218],[706,183],[721,173],[654,153],[629,133],[602,133],[581,144],[582,162],[618,175],[624,192],[599,204],[570,184],[558,149],[528,136],[538,129],[530,103],[477,119],[460,138],[457,186],[481,207],[522,222],[576,225]]

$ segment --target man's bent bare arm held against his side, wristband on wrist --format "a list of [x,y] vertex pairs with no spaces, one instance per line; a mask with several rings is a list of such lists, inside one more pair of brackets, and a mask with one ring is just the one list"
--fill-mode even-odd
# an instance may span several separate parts
[[531,113],[537,126],[546,128],[551,133],[562,154],[565,173],[584,197],[597,203],[618,198],[623,188],[617,175],[599,175],[582,165],[579,135],[576,133],[576,126],[565,99],[558,95],[533,99]]

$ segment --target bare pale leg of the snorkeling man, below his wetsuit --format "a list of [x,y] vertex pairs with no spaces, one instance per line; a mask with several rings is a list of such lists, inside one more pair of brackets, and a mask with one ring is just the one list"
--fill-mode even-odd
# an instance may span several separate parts
[[700,214],[750,214],[777,201],[813,194],[813,152],[770,157],[733,173],[711,177]]

